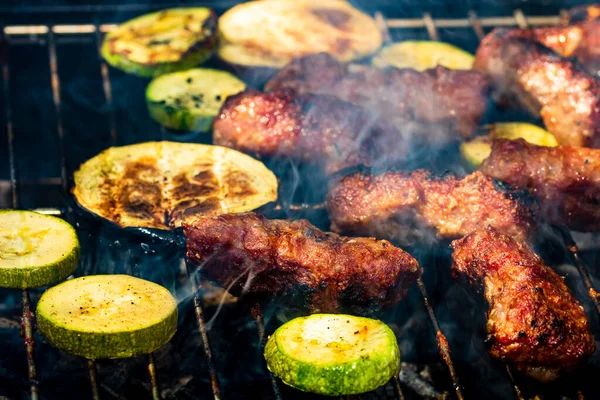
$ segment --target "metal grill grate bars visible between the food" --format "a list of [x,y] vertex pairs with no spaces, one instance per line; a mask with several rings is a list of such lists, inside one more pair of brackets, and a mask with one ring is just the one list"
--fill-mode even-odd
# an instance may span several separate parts
[[[143,10],[139,10],[143,11]],[[567,19],[567,14],[562,11],[560,16],[532,16],[527,17],[521,10],[516,10],[513,16],[510,17],[488,17],[488,18],[479,18],[478,15],[471,11],[468,14],[468,18],[465,19],[434,19],[429,13],[423,14],[422,18],[417,19],[385,19],[381,13],[375,14],[376,21],[379,27],[382,30],[384,38],[386,41],[391,41],[392,35],[391,30],[402,30],[402,29],[414,29],[414,28],[424,28],[427,31],[427,35],[432,40],[439,40],[440,28],[471,28],[473,33],[477,37],[478,40],[481,40],[485,34],[485,28],[490,27],[499,27],[499,26],[519,26],[519,27],[528,27],[528,26],[537,26],[537,25],[557,25],[561,23],[565,23]],[[114,29],[115,24],[71,24],[71,25],[34,25],[34,26],[26,26],[26,25],[12,25],[12,26],[0,26],[0,64],[2,67],[2,81],[3,81],[3,103],[4,103],[4,118],[5,118],[5,131],[7,136],[7,144],[8,144],[8,167],[10,179],[8,182],[4,182],[4,184],[8,184],[9,193],[10,193],[10,204],[13,208],[19,208],[21,206],[20,198],[19,198],[19,184],[18,180],[19,174],[17,170],[17,160],[16,160],[16,152],[15,152],[15,144],[14,144],[14,130],[13,130],[13,110],[11,106],[11,98],[10,98],[10,82],[11,75],[9,71],[9,43],[11,45],[25,45],[31,43],[41,43],[45,44],[48,47],[48,65],[50,68],[50,84],[52,90],[52,101],[54,105],[54,113],[56,118],[56,135],[58,141],[59,148],[59,171],[60,178],[59,179],[50,179],[46,180],[51,184],[57,184],[62,188],[63,193],[67,192],[68,182],[69,182],[69,174],[66,160],[66,148],[65,148],[65,134],[63,127],[63,110],[61,103],[61,81],[58,69],[57,62],[57,40],[60,38],[61,40],[65,40],[68,42],[91,42],[95,43],[95,46],[99,50],[100,45],[102,43],[103,34],[109,32]],[[99,53],[99,52],[98,52]],[[118,135],[117,135],[117,122],[115,116],[115,108],[113,104],[113,87],[111,83],[110,70],[108,65],[102,60],[100,56],[98,56],[99,60],[99,71],[100,76],[102,78],[102,90],[105,100],[105,105],[108,111],[108,128],[110,131],[110,144],[116,145],[118,143]],[[163,129],[161,131],[161,138],[166,138],[168,136],[167,132]],[[2,183],[2,182],[0,182]],[[37,182],[41,183],[41,182]],[[0,186],[0,189],[2,186]],[[280,207],[280,206],[279,206]],[[307,209],[310,206],[307,205],[291,205],[289,209]],[[44,212],[47,214],[53,215],[64,215],[67,219],[72,217],[72,210],[56,210],[56,209],[38,209],[40,212]],[[575,242],[573,241],[570,233],[565,231],[564,229],[560,231],[563,235],[565,245],[569,249],[572,254],[574,265],[577,267],[580,277],[583,279],[587,293],[589,297],[592,299],[598,313],[600,314],[600,299],[598,293],[594,290],[592,286],[592,282],[590,280],[589,274],[587,273],[586,267],[581,260],[579,251]],[[215,400],[221,399],[221,388],[219,384],[219,380],[217,377],[217,370],[215,367],[213,353],[210,346],[209,335],[206,328],[205,323],[205,311],[202,306],[202,300],[198,293],[197,288],[199,288],[199,282],[196,281],[195,274],[190,272],[188,269],[189,279],[192,281],[192,285],[196,288],[194,293],[194,310],[196,314],[196,320],[198,324],[198,330],[200,332],[203,347],[204,347],[204,355],[208,364],[208,372],[209,379],[211,383],[211,389],[213,398]],[[431,302],[429,300],[429,296],[427,293],[426,286],[424,282],[419,279],[418,281],[419,290],[421,293],[423,306],[425,307],[430,322],[434,328],[436,334],[436,343],[438,345],[438,349],[440,355],[447,366],[448,374],[453,383],[453,388],[455,391],[455,395],[458,399],[462,400],[464,398],[463,389],[459,383],[458,376],[452,361],[451,351],[448,344],[448,340],[444,333],[442,332],[438,320],[436,318],[436,314],[433,310]],[[27,351],[27,359],[28,359],[28,371],[29,371],[29,379],[30,379],[30,394],[31,398],[37,400],[38,398],[38,382],[36,380],[36,366],[33,359],[33,314],[30,311],[30,299],[28,290],[23,290],[23,330],[24,330],[24,338],[25,345]],[[255,320],[255,325],[258,330],[258,335],[260,338],[260,342],[264,345],[266,340],[265,334],[265,325],[262,315],[262,310],[260,305],[256,304],[251,309],[251,314]],[[96,362],[94,360],[88,360],[87,362],[88,371],[89,371],[89,379],[91,384],[91,393],[93,399],[99,399],[99,390],[98,390],[98,378],[97,378],[97,368]],[[514,388],[515,394],[517,398],[523,399],[522,390],[517,385],[515,379],[513,378],[513,374],[511,373],[508,365],[505,365],[507,376]],[[156,373],[156,365],[154,355],[150,354],[148,356],[148,375],[150,380],[151,394],[153,399],[159,399],[159,389],[158,389],[158,378]],[[282,398],[280,389],[278,387],[277,380],[271,375],[271,382],[273,388],[274,397],[277,400]],[[401,382],[398,377],[391,382],[395,391],[396,398],[404,399],[404,394],[401,388]],[[578,398],[583,399],[583,394],[581,392],[578,393]]]

